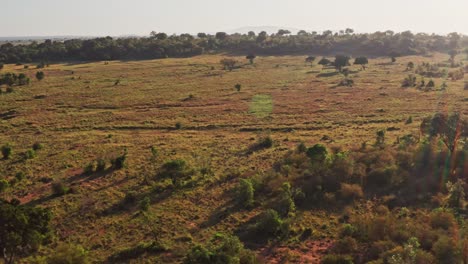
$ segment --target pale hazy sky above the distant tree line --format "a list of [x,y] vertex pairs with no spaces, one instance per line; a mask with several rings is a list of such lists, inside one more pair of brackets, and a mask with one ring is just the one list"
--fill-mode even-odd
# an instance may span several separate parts
[[0,0],[0,36],[148,35],[279,26],[468,34],[468,0]]

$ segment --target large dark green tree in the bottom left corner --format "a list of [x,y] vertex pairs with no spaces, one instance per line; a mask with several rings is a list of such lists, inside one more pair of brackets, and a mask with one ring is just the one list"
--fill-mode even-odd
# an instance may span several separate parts
[[6,264],[20,254],[30,254],[50,235],[48,209],[0,200],[0,251]]

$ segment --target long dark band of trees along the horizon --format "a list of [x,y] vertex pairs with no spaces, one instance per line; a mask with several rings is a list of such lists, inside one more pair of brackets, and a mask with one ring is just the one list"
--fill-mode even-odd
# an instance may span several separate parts
[[45,40],[28,44],[6,43],[0,46],[0,63],[33,61],[97,61],[125,59],[160,59],[191,57],[205,53],[231,54],[350,54],[355,56],[403,56],[444,52],[466,52],[468,37],[457,33],[446,36],[414,34],[410,31],[354,33],[352,29],[322,33],[301,30],[291,34],[279,30],[275,34],[260,33],[210,35],[198,33],[167,35],[151,32],[148,37]]

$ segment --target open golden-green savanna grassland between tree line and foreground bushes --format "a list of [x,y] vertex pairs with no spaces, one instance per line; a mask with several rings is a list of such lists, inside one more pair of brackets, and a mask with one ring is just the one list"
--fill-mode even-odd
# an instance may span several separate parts
[[[97,263],[182,262],[195,244],[242,233],[268,207],[273,194],[245,210],[232,192],[241,178],[268,175],[301,142],[348,150],[374,144],[383,130],[392,146],[409,134],[421,139],[420,124],[434,113],[468,114],[464,79],[434,77],[430,91],[402,87],[415,71],[409,62],[444,64],[446,54],[372,58],[365,70],[348,67],[352,87],[338,86],[342,74],[304,56],[258,57],[253,64],[229,57],[240,62],[232,71],[220,64],[225,57],[51,64],[40,69],[41,81],[33,66],[4,66],[0,74],[24,73],[32,81],[11,93],[1,87],[0,143],[12,155],[0,160],[0,175],[24,174],[1,195],[52,211],[53,237],[39,255],[71,243]],[[256,147],[263,138],[272,146]],[[35,143],[41,147],[27,154]],[[110,161],[121,155],[126,164],[114,169]],[[87,170],[100,159],[104,169]],[[190,177],[158,177],[171,160],[184,160]],[[66,194],[57,195],[59,185]],[[286,239],[241,240],[267,263],[318,263],[338,239],[344,209],[305,208],[291,218]],[[306,229],[312,232],[303,237]],[[154,240],[164,249],[118,255]]]

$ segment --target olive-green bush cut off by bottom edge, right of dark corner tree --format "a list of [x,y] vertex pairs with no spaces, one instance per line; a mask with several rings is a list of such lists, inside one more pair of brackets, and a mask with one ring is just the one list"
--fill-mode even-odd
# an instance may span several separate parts
[[88,252],[79,245],[62,244],[47,258],[48,264],[87,264]]

